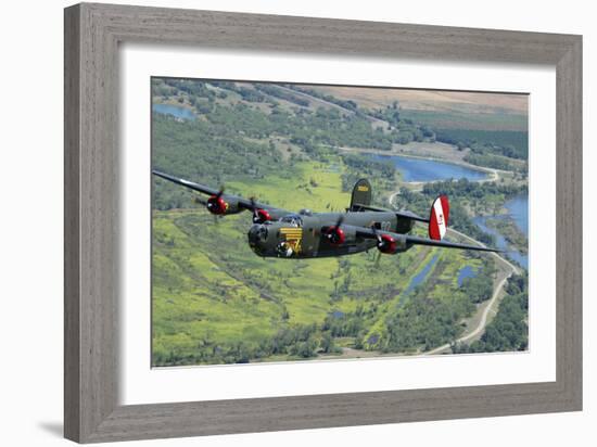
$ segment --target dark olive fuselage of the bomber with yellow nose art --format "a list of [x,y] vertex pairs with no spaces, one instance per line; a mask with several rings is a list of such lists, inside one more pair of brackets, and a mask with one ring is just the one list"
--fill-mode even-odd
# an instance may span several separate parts
[[[327,234],[329,228],[342,221],[342,243]],[[347,212],[289,214],[274,221],[254,224],[247,233],[249,245],[258,256],[280,258],[313,258],[351,255],[376,247],[377,241],[357,238],[355,228],[407,233],[414,221],[392,212]],[[404,247],[407,250],[407,247]]]

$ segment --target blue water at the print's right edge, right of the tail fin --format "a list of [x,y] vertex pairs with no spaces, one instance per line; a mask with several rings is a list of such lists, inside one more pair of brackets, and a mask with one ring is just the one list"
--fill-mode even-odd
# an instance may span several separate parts
[[529,270],[529,255],[523,255],[522,253],[511,247],[499,231],[486,226],[486,221],[488,218],[504,219],[510,217],[515,221],[517,227],[526,235],[526,238],[529,238],[529,196],[519,195],[506,202],[504,206],[506,207],[506,209],[508,209],[507,214],[488,217],[475,217],[473,218],[473,221],[481,229],[481,231],[487,234],[493,234],[495,237],[497,247],[506,252],[506,257],[515,260],[526,270]]

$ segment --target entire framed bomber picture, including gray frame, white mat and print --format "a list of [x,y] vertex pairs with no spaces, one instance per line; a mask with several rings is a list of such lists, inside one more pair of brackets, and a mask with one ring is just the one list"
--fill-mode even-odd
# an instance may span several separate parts
[[65,10],[65,436],[582,408],[582,38]]

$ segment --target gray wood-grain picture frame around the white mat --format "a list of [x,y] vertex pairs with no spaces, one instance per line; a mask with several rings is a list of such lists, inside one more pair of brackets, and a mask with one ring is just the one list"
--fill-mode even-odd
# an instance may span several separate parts
[[[67,438],[94,443],[582,409],[581,36],[89,3],[65,10],[64,31]],[[120,42],[555,66],[557,380],[118,405]]]

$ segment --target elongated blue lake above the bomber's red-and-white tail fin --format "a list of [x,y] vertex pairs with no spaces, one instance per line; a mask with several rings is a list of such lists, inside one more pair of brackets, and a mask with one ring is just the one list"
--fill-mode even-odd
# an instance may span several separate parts
[[402,173],[405,181],[436,181],[461,178],[474,181],[487,177],[487,173],[481,170],[433,159],[379,154],[372,154],[371,158],[379,162],[393,162],[396,169]]

